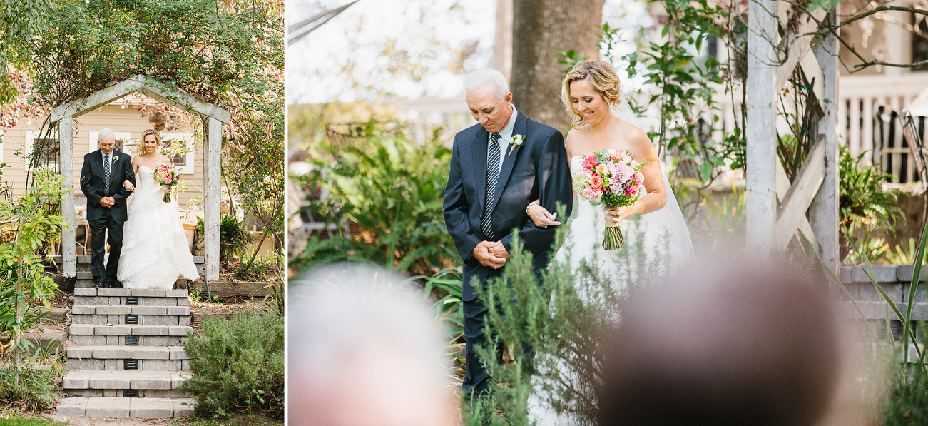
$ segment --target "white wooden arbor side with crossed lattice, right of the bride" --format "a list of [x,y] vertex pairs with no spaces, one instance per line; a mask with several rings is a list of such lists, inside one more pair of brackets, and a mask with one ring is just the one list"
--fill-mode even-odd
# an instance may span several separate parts
[[[782,251],[798,229],[837,273],[838,41],[833,33],[804,35],[833,20],[835,11],[819,9],[810,17],[791,8],[785,0],[748,6],[747,242],[761,252]],[[797,68],[814,82],[821,110],[816,142],[790,182],[777,155],[777,94]]]

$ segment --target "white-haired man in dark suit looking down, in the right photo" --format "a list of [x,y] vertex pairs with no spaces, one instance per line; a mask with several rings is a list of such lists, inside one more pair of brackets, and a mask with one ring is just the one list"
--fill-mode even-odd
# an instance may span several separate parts
[[484,284],[502,275],[513,229],[519,229],[524,249],[535,255],[535,269],[547,267],[555,229],[535,226],[525,209],[540,200],[549,212],[561,204],[570,213],[573,189],[563,136],[512,106],[502,73],[474,71],[467,78],[466,97],[479,124],[455,136],[443,210],[448,233],[464,261],[467,372],[463,390],[480,394],[486,392],[490,378],[474,348],[485,343],[487,308],[477,298],[472,280]]

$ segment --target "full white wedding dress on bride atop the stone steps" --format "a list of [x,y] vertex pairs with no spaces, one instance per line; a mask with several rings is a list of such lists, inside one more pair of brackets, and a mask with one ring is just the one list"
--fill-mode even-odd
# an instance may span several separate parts
[[139,166],[137,177],[116,278],[126,289],[165,290],[174,289],[177,278],[200,278],[177,215],[177,201],[164,202],[148,166]]

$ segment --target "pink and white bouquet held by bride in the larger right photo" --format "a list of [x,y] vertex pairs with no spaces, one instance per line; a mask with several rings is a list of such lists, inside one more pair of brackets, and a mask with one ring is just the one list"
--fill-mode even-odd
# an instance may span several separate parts
[[[580,197],[593,204],[614,209],[631,205],[644,188],[644,164],[632,160],[627,151],[610,152],[603,149],[586,156],[583,166],[574,175],[574,189]],[[606,221],[603,250],[619,250],[625,244],[622,229],[611,220]]]

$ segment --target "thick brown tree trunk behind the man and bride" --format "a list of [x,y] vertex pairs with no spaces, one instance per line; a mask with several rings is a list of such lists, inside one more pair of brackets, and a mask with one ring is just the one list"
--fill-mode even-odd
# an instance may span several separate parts
[[561,81],[567,66],[557,52],[599,58],[605,0],[513,1],[512,102],[526,116],[566,132],[571,120],[561,103]]

